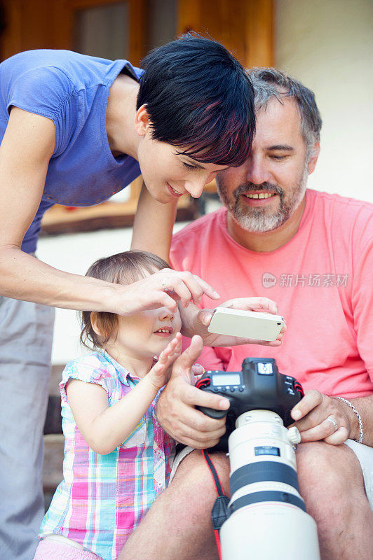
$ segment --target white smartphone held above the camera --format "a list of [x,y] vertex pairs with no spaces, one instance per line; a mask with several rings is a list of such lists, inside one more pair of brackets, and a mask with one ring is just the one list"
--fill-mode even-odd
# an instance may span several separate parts
[[285,325],[285,321],[280,315],[272,315],[262,311],[243,311],[242,309],[217,307],[212,315],[210,325],[208,325],[208,331],[215,332],[218,335],[231,335],[270,342],[276,340],[283,325]]

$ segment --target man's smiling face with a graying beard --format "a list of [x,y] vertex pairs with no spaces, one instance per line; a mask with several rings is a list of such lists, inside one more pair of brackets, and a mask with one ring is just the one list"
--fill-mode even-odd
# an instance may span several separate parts
[[289,220],[304,198],[317,158],[306,157],[296,102],[271,99],[257,113],[252,151],[240,167],[217,176],[217,190],[233,220],[249,232],[268,232]]

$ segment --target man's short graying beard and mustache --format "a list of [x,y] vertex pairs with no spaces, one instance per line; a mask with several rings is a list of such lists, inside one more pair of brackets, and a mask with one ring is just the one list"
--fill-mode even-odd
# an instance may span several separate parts
[[[222,176],[217,177],[217,192],[220,200],[229,210],[234,221],[248,232],[263,233],[280,228],[297,210],[306,193],[308,178],[308,162],[304,165],[303,172],[298,181],[294,183],[290,193],[274,183],[243,183],[238,186],[229,197]],[[242,200],[243,193],[257,192],[276,193],[280,197],[277,210],[271,212],[268,208],[248,207]]]

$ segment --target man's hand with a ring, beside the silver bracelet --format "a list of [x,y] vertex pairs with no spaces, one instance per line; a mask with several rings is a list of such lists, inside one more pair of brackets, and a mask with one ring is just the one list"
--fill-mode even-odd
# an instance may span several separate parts
[[[353,414],[353,413],[352,413]],[[355,419],[340,400],[318,391],[308,391],[292,409],[302,442],[324,440],[332,445],[344,443],[351,435]]]

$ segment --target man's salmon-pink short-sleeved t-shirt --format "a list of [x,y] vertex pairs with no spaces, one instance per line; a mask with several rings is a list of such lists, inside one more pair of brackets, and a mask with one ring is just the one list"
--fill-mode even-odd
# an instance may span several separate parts
[[270,253],[234,241],[222,208],[173,237],[171,262],[222,295],[203,296],[201,307],[266,296],[287,323],[280,347],[205,348],[198,362],[206,368],[237,371],[247,356],[271,357],[306,390],[373,393],[373,204],[307,190],[297,234]]

